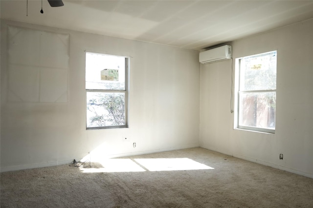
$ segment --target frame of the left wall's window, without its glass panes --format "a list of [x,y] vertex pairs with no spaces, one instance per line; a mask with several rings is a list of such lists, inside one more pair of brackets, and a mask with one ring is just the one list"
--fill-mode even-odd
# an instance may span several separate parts
[[[86,101],[86,130],[90,129],[108,129],[108,128],[128,128],[128,104],[129,104],[129,70],[130,70],[130,57],[125,57],[125,56],[118,56],[118,55],[112,55],[112,54],[104,54],[104,53],[94,53],[94,52],[89,52],[87,51],[85,53],[85,61],[86,59],[86,54],[87,53],[92,53],[92,54],[101,54],[101,55],[107,55],[107,56],[116,56],[116,57],[123,57],[125,58],[125,87],[124,90],[122,89],[86,89],[86,77],[85,77],[85,101]],[[86,76],[86,67],[85,67],[85,76]],[[124,93],[124,115],[125,115],[125,124],[124,125],[108,125],[108,126],[95,126],[95,127],[88,127],[88,118],[87,118],[87,93],[88,92],[100,92],[100,93]]]

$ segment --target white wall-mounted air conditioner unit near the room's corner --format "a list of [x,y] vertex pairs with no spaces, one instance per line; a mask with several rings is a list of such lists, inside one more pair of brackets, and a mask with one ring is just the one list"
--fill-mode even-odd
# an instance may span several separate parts
[[199,54],[201,63],[211,63],[231,59],[231,45],[223,45],[207,51],[202,51]]

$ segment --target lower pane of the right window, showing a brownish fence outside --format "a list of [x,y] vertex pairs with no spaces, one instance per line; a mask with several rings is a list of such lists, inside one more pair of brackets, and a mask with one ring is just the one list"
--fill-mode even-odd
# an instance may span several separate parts
[[275,129],[276,92],[240,93],[239,125]]

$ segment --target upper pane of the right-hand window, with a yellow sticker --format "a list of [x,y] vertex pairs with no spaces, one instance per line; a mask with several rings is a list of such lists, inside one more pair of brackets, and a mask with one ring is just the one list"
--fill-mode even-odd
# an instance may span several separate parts
[[240,62],[240,90],[276,89],[276,51],[249,56]]

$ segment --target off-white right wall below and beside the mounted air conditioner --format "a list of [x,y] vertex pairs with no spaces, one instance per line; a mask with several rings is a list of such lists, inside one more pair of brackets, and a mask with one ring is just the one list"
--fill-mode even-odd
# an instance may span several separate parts
[[201,64],[200,145],[313,177],[313,20],[237,40],[232,47],[233,60],[277,50],[276,131],[234,129],[230,85],[235,62]]

